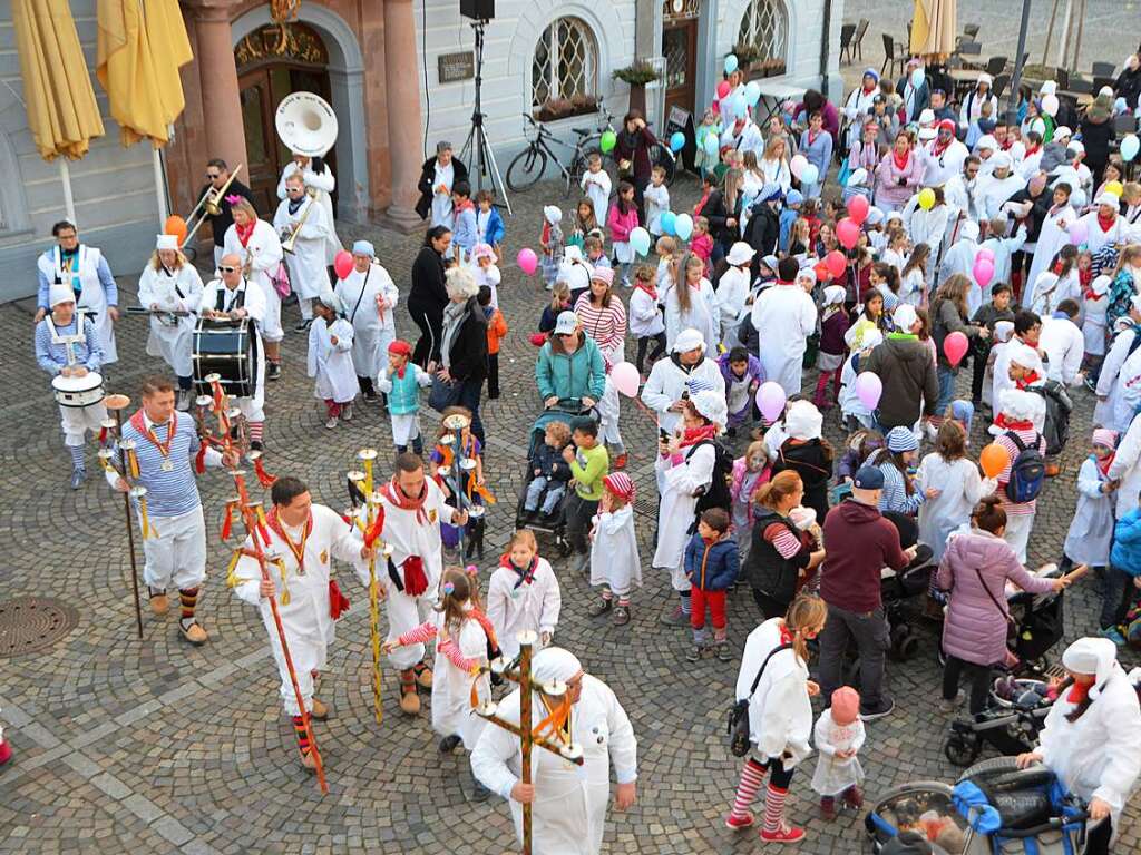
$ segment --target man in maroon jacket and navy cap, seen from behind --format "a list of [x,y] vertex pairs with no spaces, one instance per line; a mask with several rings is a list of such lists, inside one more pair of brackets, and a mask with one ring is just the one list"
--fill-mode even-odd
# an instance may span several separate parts
[[860,718],[885,716],[895,708],[883,689],[888,650],[888,619],[880,597],[880,571],[899,572],[915,557],[915,547],[900,548],[899,531],[879,511],[883,472],[864,466],[852,481],[851,498],[828,511],[824,520],[827,554],[820,572],[820,597],[828,622],[820,633],[820,692],[839,689],[844,652],[852,638],[860,660]]

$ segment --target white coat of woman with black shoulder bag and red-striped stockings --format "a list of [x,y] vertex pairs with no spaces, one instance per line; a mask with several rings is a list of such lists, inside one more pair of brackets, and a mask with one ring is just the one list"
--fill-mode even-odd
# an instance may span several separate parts
[[[784,767],[793,768],[812,752],[812,703],[808,699],[808,666],[792,649],[771,659],[756,684],[756,673],[769,652],[780,644],[780,618],[770,618],[748,634],[737,674],[738,701],[748,699],[748,739],[754,756],[767,760],[780,757]],[[787,754],[787,757],[783,755]]]

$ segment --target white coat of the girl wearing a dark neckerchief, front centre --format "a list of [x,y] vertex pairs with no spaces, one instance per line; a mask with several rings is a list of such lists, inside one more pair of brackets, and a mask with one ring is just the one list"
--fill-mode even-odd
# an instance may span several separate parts
[[487,584],[487,617],[495,627],[503,657],[510,661],[519,656],[519,633],[555,634],[563,609],[559,580],[547,559],[535,559],[535,578],[517,584],[520,577],[500,564]]

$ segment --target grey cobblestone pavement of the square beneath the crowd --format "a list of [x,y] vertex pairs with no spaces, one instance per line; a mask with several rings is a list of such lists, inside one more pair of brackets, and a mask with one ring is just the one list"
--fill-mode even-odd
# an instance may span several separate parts
[[[537,242],[547,193],[555,190],[539,188],[512,199],[517,212],[508,225],[508,258]],[[675,210],[694,201],[694,187],[683,179],[673,193]],[[364,231],[346,228],[341,236],[348,242]],[[419,239],[367,233],[406,294]],[[114,264],[114,247],[105,249]],[[121,282],[132,294],[133,277]],[[512,327],[501,356],[504,397],[487,404],[484,416],[488,479],[501,498],[488,515],[492,551],[505,543],[511,528],[526,434],[537,413],[535,350],[527,336],[545,300],[537,280],[523,277],[513,264],[504,272],[501,293]],[[261,621],[225,587],[228,551],[217,532],[230,489],[217,471],[201,480],[211,562],[200,613],[211,641],[201,649],[185,645],[173,617],[146,617],[146,637],[136,640],[121,506],[102,479],[92,478],[78,492],[67,489],[56,408],[31,357],[33,310],[31,301],[0,307],[0,378],[11,392],[0,407],[0,534],[9,543],[9,561],[0,567],[0,601],[58,596],[81,617],[54,649],[0,662],[0,715],[16,752],[15,762],[0,769],[0,852],[513,850],[507,806],[499,799],[471,800],[466,758],[440,758],[427,712],[414,720],[400,716],[391,671],[385,675],[385,723],[375,724],[366,600],[350,577],[342,578],[349,579],[345,587],[354,605],[341,620],[321,692],[333,715],[316,725],[331,785],[327,797],[319,796],[298,767]],[[398,315],[407,332],[411,324]],[[297,318],[296,308],[286,310],[286,328]],[[144,353],[140,319],[120,321],[119,342],[121,361],[111,369],[111,386],[137,396],[140,378],[163,366]],[[300,475],[318,500],[340,508],[346,502],[343,473],[353,467],[354,454],[362,446],[390,448],[389,425],[375,408],[362,406],[350,425],[325,430],[304,372],[305,347],[305,336],[286,336],[284,376],[272,385],[267,404],[268,467]],[[806,375],[815,380],[815,372]],[[1039,503],[1034,562],[1058,557],[1073,512],[1074,474],[1091,415],[1090,396],[1078,392],[1077,401],[1065,474],[1050,483]],[[836,420],[830,414],[826,424],[828,437],[839,442]],[[428,421],[434,427],[435,421]],[[734,834],[721,822],[739,767],[725,740],[738,663],[689,665],[683,659],[688,633],[657,624],[670,601],[667,580],[649,568],[655,430],[630,406],[622,429],[641,491],[638,522],[646,576],[633,600],[632,622],[615,628],[590,621],[585,577],[549,553],[564,592],[556,640],[613,686],[639,739],[638,805],[625,815],[610,815],[604,849],[753,852],[759,848],[754,833]],[[973,442],[976,449],[982,445],[980,430]],[[95,471],[94,451],[89,458]],[[489,554],[483,568],[492,565]],[[1067,636],[1073,638],[1094,626],[1092,583],[1074,591],[1068,603]],[[738,591],[729,608],[735,652],[755,622],[747,591]],[[897,711],[868,728],[861,759],[869,798],[901,782],[950,780],[956,773],[941,751],[947,720],[932,711],[939,676],[936,633],[917,618],[916,625],[919,653],[890,665]],[[791,819],[808,823],[810,831],[799,850],[861,850],[858,817],[849,813],[835,823],[816,819],[808,788],[812,765],[809,760],[798,772],[790,803]],[[1141,846],[1139,813],[1133,804],[1118,852]]]

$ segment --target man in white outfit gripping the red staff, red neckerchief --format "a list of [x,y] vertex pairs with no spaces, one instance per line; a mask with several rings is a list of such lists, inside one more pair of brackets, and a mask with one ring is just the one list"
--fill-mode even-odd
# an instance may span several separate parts
[[261,612],[282,678],[282,703],[293,719],[301,765],[311,769],[316,762],[309,751],[305,719],[293,691],[293,676],[285,661],[268,597],[277,598],[277,613],[305,707],[310,718],[323,722],[329,717],[329,707],[314,697],[314,683],[325,667],[329,645],[334,640],[333,621],[341,609],[348,606],[332,581],[330,559],[353,564],[362,583],[367,585],[373,549],[364,545],[354,527],[347,526],[335,511],[315,504],[309,488],[300,479],[278,478],[269,496],[273,507],[266,514],[265,526],[256,529],[257,537],[268,537],[268,543],[262,540],[261,546],[268,560],[269,578],[262,578],[253,542],[246,537],[227,584],[238,597]]

